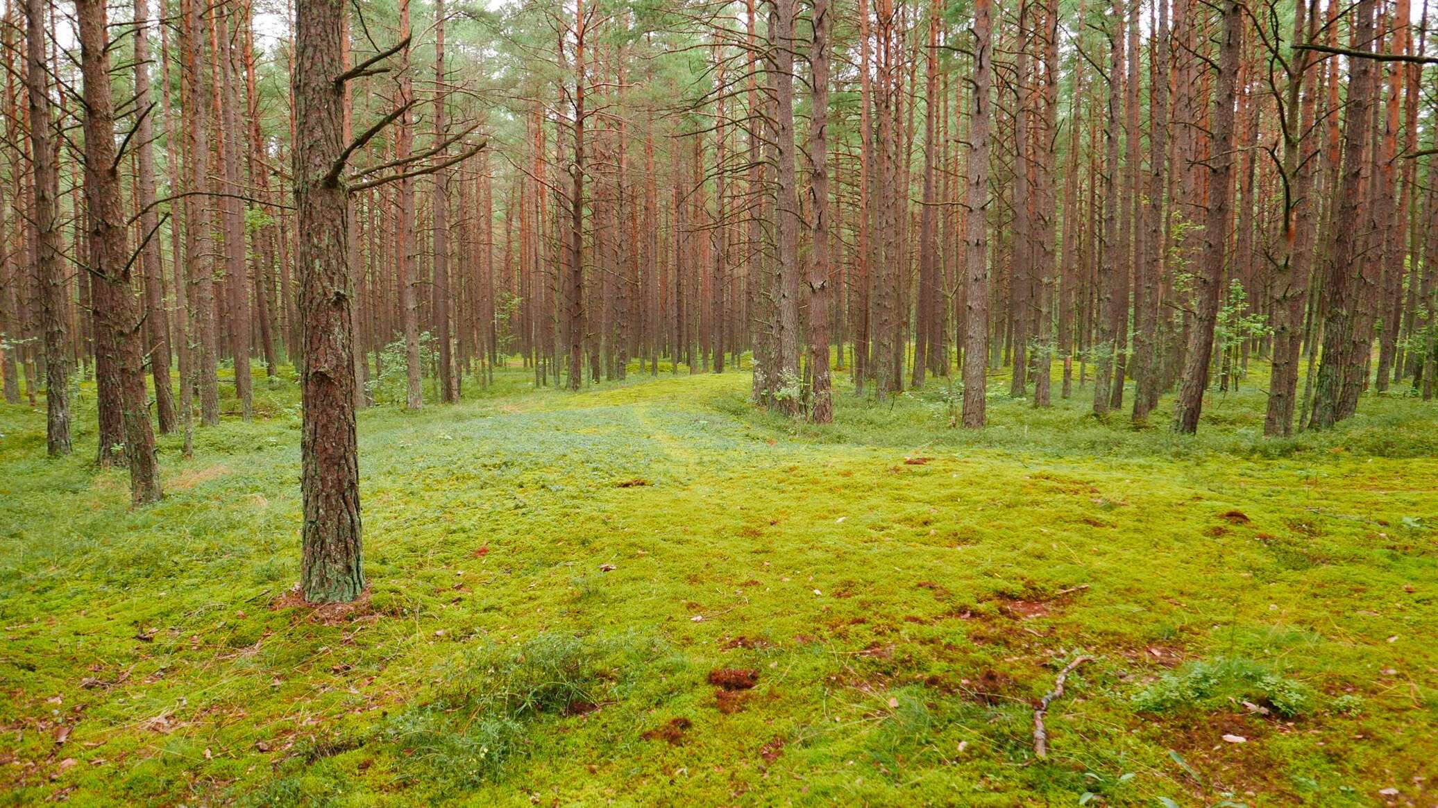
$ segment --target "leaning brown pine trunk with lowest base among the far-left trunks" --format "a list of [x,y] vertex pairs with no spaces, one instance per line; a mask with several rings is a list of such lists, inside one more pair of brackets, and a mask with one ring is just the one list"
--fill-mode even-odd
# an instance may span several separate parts
[[119,420],[129,462],[129,499],[160,499],[155,436],[150,428],[141,351],[141,316],[131,289],[125,213],[119,198],[115,112],[109,91],[105,0],[76,3],[81,72],[85,76],[85,207],[96,322],[109,332],[111,362],[119,388]]

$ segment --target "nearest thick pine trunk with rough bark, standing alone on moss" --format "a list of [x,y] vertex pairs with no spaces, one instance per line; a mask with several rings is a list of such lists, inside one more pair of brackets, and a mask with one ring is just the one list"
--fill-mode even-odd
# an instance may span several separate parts
[[305,0],[295,14],[295,204],[305,525],[302,589],[309,602],[352,601],[364,589],[360,462],[355,446],[354,293],[347,256],[348,193],[339,160],[344,0]]

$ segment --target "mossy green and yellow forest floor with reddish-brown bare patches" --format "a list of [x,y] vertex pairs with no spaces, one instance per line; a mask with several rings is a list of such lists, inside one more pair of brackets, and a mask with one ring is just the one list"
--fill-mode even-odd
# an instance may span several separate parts
[[0,804],[1438,805],[1435,410],[1265,440],[1261,375],[1183,437],[513,368],[360,416],[371,589],[319,610],[292,377],[142,510],[91,394],[60,462],[0,405]]

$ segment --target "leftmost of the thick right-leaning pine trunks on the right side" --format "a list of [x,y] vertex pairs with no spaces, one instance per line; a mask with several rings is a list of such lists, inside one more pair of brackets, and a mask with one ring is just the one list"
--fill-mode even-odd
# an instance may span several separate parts
[[1242,16],[1235,0],[1224,3],[1224,30],[1218,47],[1218,86],[1214,91],[1214,142],[1208,158],[1208,216],[1204,219],[1204,253],[1194,280],[1198,285],[1198,316],[1189,336],[1183,382],[1179,387],[1173,428],[1198,431],[1198,417],[1208,388],[1208,358],[1214,349],[1214,325],[1224,286],[1224,254],[1232,211],[1229,193],[1234,173],[1234,88],[1238,83],[1238,55]]

